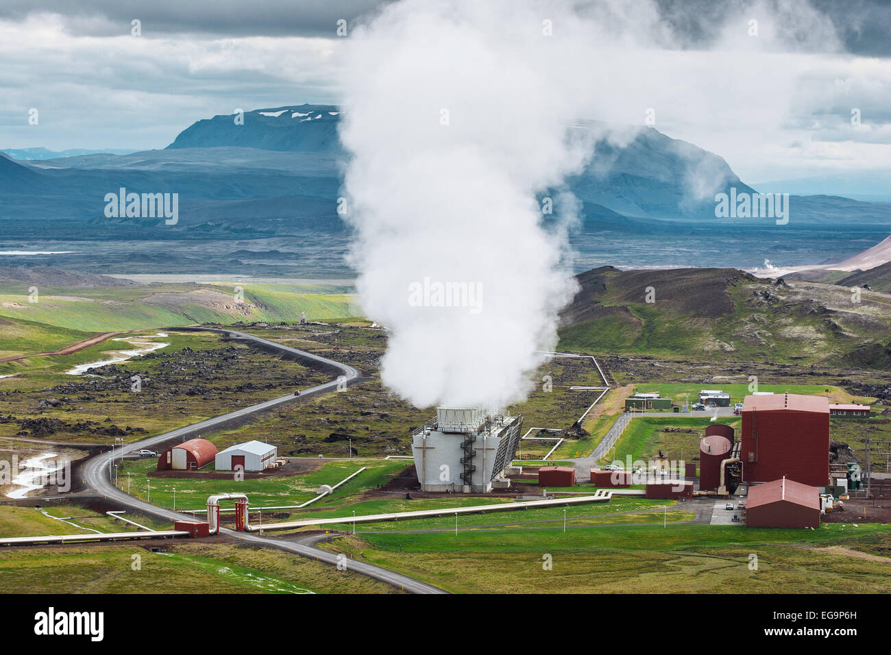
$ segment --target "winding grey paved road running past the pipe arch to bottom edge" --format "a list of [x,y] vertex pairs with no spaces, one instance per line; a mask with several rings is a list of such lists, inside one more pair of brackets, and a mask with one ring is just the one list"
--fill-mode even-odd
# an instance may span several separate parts
[[[179,329],[179,328],[177,328]],[[325,382],[324,384],[316,385],[315,387],[311,387],[309,389],[301,390],[300,396],[295,397],[293,394],[289,394],[288,396],[282,396],[278,398],[274,398],[273,400],[267,400],[264,403],[259,403],[257,405],[250,405],[249,407],[243,407],[234,412],[222,414],[220,416],[216,416],[214,418],[208,419],[207,421],[202,421],[199,423],[195,423],[193,425],[185,426],[184,428],[178,428],[176,430],[170,430],[169,432],[165,432],[163,434],[156,435],[154,437],[144,438],[140,441],[135,441],[133,443],[127,444],[122,448],[119,448],[115,451],[115,458],[119,458],[120,456],[133,452],[135,450],[140,450],[142,448],[151,448],[152,446],[156,446],[160,443],[163,443],[168,440],[172,440],[177,437],[190,437],[192,434],[199,433],[201,430],[210,430],[215,427],[225,426],[227,423],[233,422],[234,420],[242,419],[244,417],[251,416],[252,414],[261,413],[268,411],[271,407],[276,405],[282,405],[284,403],[290,403],[299,401],[301,398],[305,398],[307,396],[315,396],[316,394],[327,393],[329,391],[333,391],[337,389],[338,385],[342,382],[347,385],[350,383],[355,383],[356,381],[361,379],[361,373],[359,373],[355,368],[349,366],[347,364],[340,364],[339,362],[335,362],[331,359],[326,359],[322,356],[313,355],[311,353],[304,352],[302,350],[298,350],[297,348],[290,348],[289,346],[283,346],[282,344],[275,343],[274,341],[261,339],[260,337],[255,337],[251,334],[246,334],[244,332],[233,332],[232,330],[211,330],[211,329],[203,329],[204,332],[223,332],[226,333],[233,338],[243,339],[254,341],[256,343],[260,343],[267,348],[274,348],[279,352],[289,353],[290,355],[298,357],[303,361],[315,361],[319,364],[324,364],[325,366],[336,368],[341,372],[343,376],[341,380],[333,380],[331,382]],[[181,514],[179,512],[173,512],[171,510],[165,509],[163,507],[158,507],[157,505],[153,505],[150,503],[146,503],[143,500],[133,497],[132,495],[128,495],[127,493],[119,490],[118,487],[115,487],[111,484],[110,475],[109,475],[109,463],[110,463],[111,453],[102,453],[96,455],[92,459],[88,460],[84,463],[82,471],[84,476],[84,481],[88,487],[92,487],[99,494],[104,495],[106,498],[110,498],[112,500],[117,501],[119,504],[123,505],[127,509],[134,510],[137,512],[143,512],[146,514],[151,514],[152,516],[157,516],[162,519],[168,520],[193,520],[191,515]],[[339,563],[338,556],[335,553],[329,553],[327,551],[323,551],[318,548],[314,548],[312,545],[307,545],[304,543],[294,543],[289,541],[284,541],[282,539],[273,539],[267,536],[249,534],[245,532],[236,532],[234,530],[230,530],[227,528],[220,529],[221,534],[225,534],[228,536],[233,536],[236,538],[240,538],[242,542],[250,543],[250,544],[260,544],[264,546],[268,546],[271,548],[277,548],[282,551],[287,551],[290,553],[296,553],[298,555],[302,555],[311,560],[323,561],[328,564],[337,565]],[[388,569],[383,569],[378,566],[374,566],[372,564],[367,564],[363,561],[356,560],[347,560],[346,562],[347,570],[356,571],[357,573],[361,573],[363,575],[373,577],[375,579],[386,582],[390,585],[394,585],[400,589],[404,589],[407,592],[413,594],[444,594],[442,590],[438,589],[433,585],[428,585],[419,580],[415,580],[413,577],[404,576],[399,573],[395,573]]]

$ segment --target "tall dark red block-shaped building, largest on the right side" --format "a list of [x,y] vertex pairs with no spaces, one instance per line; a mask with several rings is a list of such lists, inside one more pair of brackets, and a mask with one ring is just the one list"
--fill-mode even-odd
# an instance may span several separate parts
[[743,482],[783,476],[804,485],[830,484],[830,403],[822,396],[747,396],[740,446]]

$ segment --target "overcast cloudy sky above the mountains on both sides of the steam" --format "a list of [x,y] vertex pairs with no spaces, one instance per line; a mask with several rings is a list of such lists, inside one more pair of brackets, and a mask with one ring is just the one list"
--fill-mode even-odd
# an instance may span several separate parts
[[[4,0],[0,148],[163,148],[195,120],[236,108],[338,102],[337,22],[352,29],[378,4]],[[627,15],[628,6],[582,9],[629,37],[590,62],[609,102],[579,118],[642,125],[652,109],[654,127],[715,151],[752,184],[891,168],[889,3],[642,0]]]

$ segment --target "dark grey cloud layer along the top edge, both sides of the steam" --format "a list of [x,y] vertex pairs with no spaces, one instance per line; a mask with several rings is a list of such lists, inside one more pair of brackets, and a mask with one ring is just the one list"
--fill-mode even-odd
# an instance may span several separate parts
[[[130,21],[143,22],[143,36],[206,34],[208,36],[331,37],[340,19],[353,24],[391,0],[4,0],[0,20],[23,20],[34,12],[59,13],[69,33],[107,37],[127,33]],[[479,0],[485,2],[485,0]],[[782,16],[790,40],[807,42],[796,23],[794,5],[786,0],[656,0],[662,20],[674,32],[673,45],[707,48],[720,38],[729,16],[746,17],[753,8]],[[577,4],[589,4],[581,0]],[[891,4],[887,0],[811,0],[828,18],[847,52],[891,55]],[[547,3],[543,3],[546,6]],[[791,8],[791,11],[789,9]],[[819,52],[819,44],[805,49]]]

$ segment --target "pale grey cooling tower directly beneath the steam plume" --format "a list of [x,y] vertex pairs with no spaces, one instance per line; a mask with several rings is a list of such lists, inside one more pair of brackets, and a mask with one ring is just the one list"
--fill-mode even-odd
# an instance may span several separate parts
[[412,435],[421,490],[478,494],[510,487],[503,472],[513,462],[522,427],[522,415],[438,407],[436,418]]

